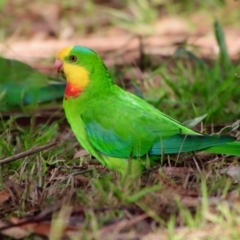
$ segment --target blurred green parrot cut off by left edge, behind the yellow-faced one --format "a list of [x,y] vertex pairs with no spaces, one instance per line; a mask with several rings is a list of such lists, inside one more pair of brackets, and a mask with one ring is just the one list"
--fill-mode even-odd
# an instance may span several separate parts
[[0,57],[0,113],[62,98],[65,87],[25,63]]

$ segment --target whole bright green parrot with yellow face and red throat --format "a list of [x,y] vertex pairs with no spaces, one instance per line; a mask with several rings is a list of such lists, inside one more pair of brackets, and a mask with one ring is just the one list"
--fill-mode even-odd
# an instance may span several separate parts
[[63,108],[72,131],[109,169],[136,173],[160,155],[200,150],[240,156],[234,137],[189,129],[118,87],[91,49],[66,47],[57,53],[54,66],[67,79]]

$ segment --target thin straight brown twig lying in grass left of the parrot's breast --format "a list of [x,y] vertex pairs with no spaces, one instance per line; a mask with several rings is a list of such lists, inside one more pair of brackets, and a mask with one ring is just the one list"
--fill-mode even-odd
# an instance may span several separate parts
[[34,154],[34,153],[41,152],[41,151],[43,151],[43,150],[52,148],[52,147],[54,147],[56,144],[57,144],[57,142],[51,142],[51,143],[46,144],[46,145],[44,145],[44,146],[36,147],[36,148],[30,149],[30,150],[27,150],[27,151],[25,151],[25,152],[21,152],[21,153],[15,154],[15,155],[13,155],[13,156],[11,156],[11,157],[7,157],[7,158],[4,158],[4,159],[1,159],[1,160],[0,160],[0,165],[4,165],[4,164],[6,164],[6,163],[13,162],[13,161],[18,160],[18,159],[20,159],[20,158],[30,156],[30,155],[32,155],[32,154]]

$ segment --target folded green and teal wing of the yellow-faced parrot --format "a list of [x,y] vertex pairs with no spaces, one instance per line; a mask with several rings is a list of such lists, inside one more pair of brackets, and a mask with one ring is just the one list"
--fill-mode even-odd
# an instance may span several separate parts
[[201,135],[118,87],[92,101],[81,118],[91,144],[112,157],[189,152],[235,140]]

